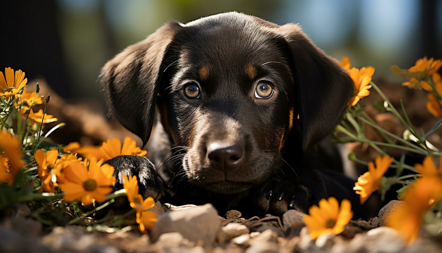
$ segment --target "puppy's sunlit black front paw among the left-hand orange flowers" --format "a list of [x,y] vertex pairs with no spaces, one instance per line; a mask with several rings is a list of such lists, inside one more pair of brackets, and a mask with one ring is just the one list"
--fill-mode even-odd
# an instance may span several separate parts
[[144,156],[117,156],[104,163],[114,167],[114,177],[117,179],[115,190],[123,188],[123,175],[136,175],[138,188],[143,198],[152,197],[158,200],[163,195],[163,180],[156,171],[155,165]]

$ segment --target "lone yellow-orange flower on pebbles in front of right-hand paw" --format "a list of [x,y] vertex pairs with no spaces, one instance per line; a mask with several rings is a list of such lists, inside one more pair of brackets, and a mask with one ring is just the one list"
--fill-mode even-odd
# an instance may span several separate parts
[[304,216],[304,222],[309,228],[309,235],[312,239],[318,238],[322,234],[340,234],[344,231],[344,226],[353,217],[351,203],[344,199],[339,207],[338,201],[334,197],[321,199],[318,206],[309,209],[309,215]]

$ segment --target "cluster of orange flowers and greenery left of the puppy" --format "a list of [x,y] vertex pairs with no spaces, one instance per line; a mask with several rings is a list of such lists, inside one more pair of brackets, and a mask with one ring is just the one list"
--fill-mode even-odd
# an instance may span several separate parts
[[[46,113],[50,96],[38,96],[38,83],[35,90],[30,90],[27,83],[22,70],[8,67],[4,74],[0,72],[0,211],[17,202],[38,207],[42,205],[36,203],[43,201],[48,208],[46,215],[64,208],[61,216],[71,215],[68,224],[73,224],[109,205],[118,196],[127,195],[136,210],[133,218],[141,233],[150,230],[156,221],[156,215],[148,211],[155,205],[153,199],[143,200],[138,193],[137,178],[128,179],[126,175],[125,189],[113,192],[114,168],[103,164],[120,155],[145,156],[146,151],[137,147],[130,137],[123,143],[109,139],[99,147],[81,147],[79,143],[63,147],[52,143],[48,136],[64,123],[46,131],[47,125],[58,121]],[[55,199],[58,201],[53,202]],[[91,207],[94,202],[95,208]],[[90,208],[87,213],[82,210]],[[34,210],[33,217],[38,218],[41,212],[41,209]],[[124,219],[130,214],[128,211],[105,222],[96,221],[97,227],[137,224]],[[51,222],[41,220],[45,224]]]

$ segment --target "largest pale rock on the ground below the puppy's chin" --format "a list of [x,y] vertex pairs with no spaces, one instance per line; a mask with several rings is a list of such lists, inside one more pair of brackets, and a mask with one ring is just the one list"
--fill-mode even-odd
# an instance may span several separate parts
[[190,241],[202,240],[204,245],[209,246],[215,241],[220,227],[217,210],[206,204],[161,215],[153,224],[150,235],[152,241],[156,241],[161,234],[179,232]]

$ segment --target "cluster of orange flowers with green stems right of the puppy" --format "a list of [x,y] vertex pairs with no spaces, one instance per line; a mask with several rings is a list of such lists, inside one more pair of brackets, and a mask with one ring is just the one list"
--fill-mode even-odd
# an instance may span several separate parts
[[[364,204],[375,191],[378,191],[383,199],[393,184],[401,184],[402,188],[397,193],[398,199],[403,200],[404,204],[388,214],[387,226],[399,231],[404,239],[411,244],[418,236],[419,230],[426,227],[425,217],[429,214],[433,215],[434,220],[438,220],[437,222],[442,222],[442,219],[438,218],[442,215],[442,156],[440,156],[442,152],[427,140],[427,136],[433,134],[442,125],[442,119],[429,132],[417,132],[405,111],[403,102],[401,101],[402,113],[399,113],[379,87],[371,82],[374,69],[367,67],[365,70],[363,70],[364,68],[359,71],[357,69],[350,70],[350,60],[347,57],[344,57],[339,64],[350,71],[356,87],[355,90],[358,93],[355,92],[355,96],[350,102],[353,107],[347,108],[343,119],[335,128],[336,140],[342,143],[364,143],[380,154],[374,163],[359,160],[354,153],[349,155],[351,160],[368,167],[368,171],[359,176],[353,189],[359,195],[361,204]],[[429,92],[426,107],[435,117],[442,117],[442,81],[437,72],[441,66],[442,60],[423,57],[418,59],[415,66],[408,70],[400,69],[398,66],[390,68],[394,74],[400,75],[406,80],[402,84],[403,86]],[[358,86],[358,84],[360,85]],[[384,100],[383,104],[377,105],[377,109],[389,111],[397,117],[406,129],[404,137],[381,128],[364,112],[363,106],[356,105],[360,98],[370,93],[368,89],[371,87],[374,87]],[[384,141],[373,141],[367,138],[364,131],[366,126],[373,128]],[[343,134],[347,139],[343,139],[342,135],[338,136],[338,134]],[[425,156],[425,159],[422,164],[410,166],[404,162],[408,153],[404,153],[400,159],[396,160],[387,154],[390,148]],[[434,163],[435,155],[440,156],[438,168]],[[385,175],[389,169],[394,169],[394,175]]]

